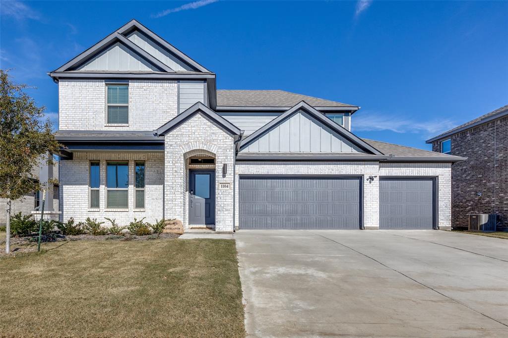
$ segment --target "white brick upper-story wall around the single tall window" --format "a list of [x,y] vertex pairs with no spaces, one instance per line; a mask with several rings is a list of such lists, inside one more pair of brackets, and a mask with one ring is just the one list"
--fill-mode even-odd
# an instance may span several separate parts
[[60,130],[154,130],[177,114],[178,84],[167,80],[129,81],[129,125],[106,124],[106,82],[58,83]]

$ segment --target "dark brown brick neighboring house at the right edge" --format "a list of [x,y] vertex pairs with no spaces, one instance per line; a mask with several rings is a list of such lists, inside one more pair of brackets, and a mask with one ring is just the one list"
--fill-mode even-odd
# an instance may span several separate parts
[[499,214],[508,230],[508,105],[430,140],[432,150],[467,157],[452,167],[452,227],[469,214]]

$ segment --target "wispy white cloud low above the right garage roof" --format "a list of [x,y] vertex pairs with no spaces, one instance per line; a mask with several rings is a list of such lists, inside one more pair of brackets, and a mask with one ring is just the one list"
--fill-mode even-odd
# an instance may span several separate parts
[[353,115],[351,125],[354,131],[390,130],[399,133],[423,133],[427,138],[450,130],[457,124],[449,119],[418,121],[404,116],[363,111]]

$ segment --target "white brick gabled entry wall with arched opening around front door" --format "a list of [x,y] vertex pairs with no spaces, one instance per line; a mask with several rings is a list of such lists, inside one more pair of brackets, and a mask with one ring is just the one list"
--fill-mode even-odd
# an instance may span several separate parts
[[[188,225],[188,179],[185,160],[190,156],[215,157],[215,230],[233,231],[233,137],[201,114],[196,114],[165,137],[165,216]],[[222,173],[223,164],[230,170]],[[219,183],[231,183],[231,189],[219,189]]]

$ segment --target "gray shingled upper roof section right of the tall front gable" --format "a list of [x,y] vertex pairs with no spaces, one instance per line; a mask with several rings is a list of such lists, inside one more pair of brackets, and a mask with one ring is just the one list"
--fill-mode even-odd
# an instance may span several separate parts
[[313,107],[347,107],[357,110],[358,106],[326,100],[284,90],[217,90],[217,107],[285,107],[291,108],[305,101]]

